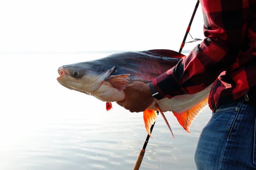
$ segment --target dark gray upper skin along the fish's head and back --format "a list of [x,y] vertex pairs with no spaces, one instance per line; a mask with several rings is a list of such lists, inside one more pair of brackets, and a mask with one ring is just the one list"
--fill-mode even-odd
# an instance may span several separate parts
[[181,57],[184,56],[172,50],[121,52],[98,60],[65,65],[59,69],[68,69],[70,75],[79,79],[86,74],[102,74],[115,66],[111,75],[130,74],[133,81],[148,83],[175,66]]

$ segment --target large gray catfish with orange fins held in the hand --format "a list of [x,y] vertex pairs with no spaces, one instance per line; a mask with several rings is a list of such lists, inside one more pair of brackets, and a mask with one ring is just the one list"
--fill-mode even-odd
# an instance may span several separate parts
[[[97,60],[59,67],[57,81],[68,89],[105,101],[106,110],[109,111],[112,102],[125,100],[124,89],[132,86],[133,81],[149,83],[174,67],[183,57],[186,56],[165,49],[119,52]],[[192,121],[208,104],[209,91],[210,86],[196,94],[178,95],[171,99],[154,99],[143,112],[148,134],[151,136],[150,127],[158,118],[156,111],[164,117],[171,133],[172,130],[164,115],[167,111],[171,111],[183,129],[190,133]],[[173,133],[172,136],[174,137]]]

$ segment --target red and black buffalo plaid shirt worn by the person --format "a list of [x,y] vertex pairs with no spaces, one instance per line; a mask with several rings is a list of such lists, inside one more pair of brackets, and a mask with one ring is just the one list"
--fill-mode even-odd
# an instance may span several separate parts
[[215,111],[256,85],[256,0],[201,0],[201,6],[207,38],[153,85],[172,98],[213,84],[209,107]]

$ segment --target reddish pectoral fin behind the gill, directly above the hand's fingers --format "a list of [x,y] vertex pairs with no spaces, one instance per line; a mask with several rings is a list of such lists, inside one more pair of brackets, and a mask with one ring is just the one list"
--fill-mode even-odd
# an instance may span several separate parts
[[108,81],[114,88],[121,91],[126,87],[133,85],[133,81],[129,78],[130,74],[112,75],[107,78]]

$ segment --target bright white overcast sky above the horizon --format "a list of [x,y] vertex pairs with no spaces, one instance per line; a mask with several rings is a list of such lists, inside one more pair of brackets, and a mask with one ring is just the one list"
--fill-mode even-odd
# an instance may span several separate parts
[[[1,0],[0,4],[0,51],[178,50],[196,0]],[[190,32],[193,38],[204,38],[202,28],[199,5]],[[186,44],[184,50],[198,43]]]

